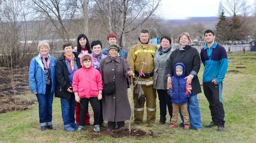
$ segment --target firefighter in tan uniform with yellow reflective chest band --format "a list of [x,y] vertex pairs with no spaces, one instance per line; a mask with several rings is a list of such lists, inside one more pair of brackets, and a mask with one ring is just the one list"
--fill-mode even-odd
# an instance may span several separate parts
[[[147,30],[140,32],[139,43],[134,45],[128,52],[127,60],[134,72],[133,81],[141,84],[146,98],[147,122],[154,123],[156,120],[156,89],[153,88],[154,56],[157,46],[149,43]],[[139,78],[141,77],[141,78]],[[144,104],[139,104],[138,95],[134,93],[134,122],[140,124],[143,121]]]

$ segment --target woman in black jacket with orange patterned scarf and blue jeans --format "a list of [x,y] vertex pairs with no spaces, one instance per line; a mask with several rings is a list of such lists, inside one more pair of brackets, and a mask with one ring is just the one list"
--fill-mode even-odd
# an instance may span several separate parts
[[72,79],[75,71],[81,68],[78,53],[73,52],[73,45],[66,42],[62,46],[61,54],[56,64],[56,90],[55,97],[61,98],[61,113],[64,122],[64,130],[75,131],[78,128],[75,123],[75,95],[72,91]]

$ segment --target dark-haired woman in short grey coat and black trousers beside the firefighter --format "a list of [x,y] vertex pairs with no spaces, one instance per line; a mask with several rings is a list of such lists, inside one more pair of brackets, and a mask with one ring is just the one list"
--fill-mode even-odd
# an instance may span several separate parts
[[156,89],[160,105],[160,121],[159,124],[165,124],[166,121],[166,105],[170,115],[170,121],[172,117],[172,103],[171,97],[167,94],[167,67],[170,59],[171,52],[171,38],[163,36],[160,39],[161,46],[156,50],[154,57],[154,84]]

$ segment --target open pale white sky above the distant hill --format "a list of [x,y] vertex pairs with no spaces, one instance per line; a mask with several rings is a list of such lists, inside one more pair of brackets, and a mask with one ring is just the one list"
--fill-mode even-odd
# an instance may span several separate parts
[[[247,0],[249,5],[254,0]],[[164,19],[218,16],[220,0],[162,0],[160,6]],[[222,0],[224,2],[224,0]]]

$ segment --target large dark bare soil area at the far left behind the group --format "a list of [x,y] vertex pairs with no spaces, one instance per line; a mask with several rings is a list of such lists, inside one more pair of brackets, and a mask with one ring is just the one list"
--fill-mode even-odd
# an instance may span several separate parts
[[[13,70],[13,77],[16,83],[15,90],[12,89],[10,72],[8,68],[0,68],[0,113],[6,113],[12,110],[25,110],[36,103],[34,98],[28,98],[29,92],[28,69],[18,68]],[[15,92],[15,95],[14,95]]]

